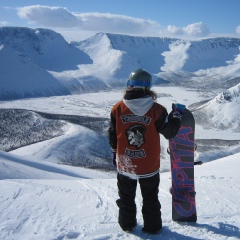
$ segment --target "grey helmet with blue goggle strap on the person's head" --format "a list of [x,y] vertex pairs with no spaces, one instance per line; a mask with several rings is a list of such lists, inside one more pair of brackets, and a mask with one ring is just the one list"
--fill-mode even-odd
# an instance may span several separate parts
[[151,88],[152,76],[142,69],[137,69],[130,73],[127,86]]

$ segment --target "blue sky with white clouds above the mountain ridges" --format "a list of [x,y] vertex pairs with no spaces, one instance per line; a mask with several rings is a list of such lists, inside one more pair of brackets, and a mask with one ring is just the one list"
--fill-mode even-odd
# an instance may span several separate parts
[[50,28],[67,40],[97,32],[240,37],[240,0],[0,0],[0,26]]

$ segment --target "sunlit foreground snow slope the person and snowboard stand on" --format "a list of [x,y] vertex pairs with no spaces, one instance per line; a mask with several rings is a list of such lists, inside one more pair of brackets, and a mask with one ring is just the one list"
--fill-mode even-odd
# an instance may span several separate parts
[[0,238],[240,239],[239,157],[238,153],[196,167],[197,223],[171,220],[170,173],[161,173],[159,199],[164,227],[159,235],[151,236],[141,232],[139,188],[136,229],[129,234],[118,226],[114,173],[88,170],[85,174],[85,169],[38,164],[34,159],[0,152]]

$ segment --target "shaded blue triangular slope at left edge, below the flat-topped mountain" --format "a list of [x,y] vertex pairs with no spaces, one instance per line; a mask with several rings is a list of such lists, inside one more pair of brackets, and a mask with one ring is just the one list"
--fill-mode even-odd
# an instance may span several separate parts
[[70,94],[49,72],[8,46],[0,46],[0,63],[0,100]]

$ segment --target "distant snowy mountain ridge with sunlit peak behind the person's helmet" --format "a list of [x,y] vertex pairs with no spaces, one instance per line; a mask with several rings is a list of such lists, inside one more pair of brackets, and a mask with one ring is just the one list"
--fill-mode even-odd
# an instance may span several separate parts
[[[99,33],[85,41],[72,44],[89,54],[93,59],[94,69],[98,70],[98,76],[102,74],[112,81],[116,78],[126,79],[129,73],[137,68],[147,69],[154,75],[163,72],[164,79],[168,81],[171,81],[173,72],[180,75],[184,73],[184,78],[198,78],[203,74],[207,75],[203,71],[209,72],[209,69],[214,68],[213,72],[216,72],[219,67],[239,63],[237,57],[240,54],[240,39],[235,38],[186,41]],[[92,69],[93,66],[83,67],[82,71],[94,75],[96,71]],[[198,73],[200,70],[202,72]],[[230,69],[225,71],[225,74],[229,71]],[[195,72],[193,76],[191,73]],[[235,72],[235,76],[239,75],[239,71]],[[207,77],[205,76],[205,79]],[[154,81],[159,81],[158,78],[162,76],[156,76]]]

